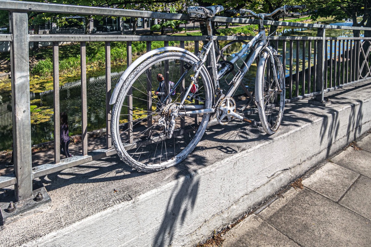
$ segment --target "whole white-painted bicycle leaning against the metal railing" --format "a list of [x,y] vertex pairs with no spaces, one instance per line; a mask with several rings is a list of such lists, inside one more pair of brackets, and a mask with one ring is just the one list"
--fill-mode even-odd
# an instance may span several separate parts
[[[196,56],[178,47],[152,50],[125,70],[112,93],[112,142],[119,157],[145,172],[174,166],[196,147],[210,118],[223,125],[241,120],[261,125],[267,134],[275,133],[285,106],[285,73],[280,55],[267,44],[263,20],[303,7],[284,6],[270,14],[240,9],[242,16],[250,14],[260,20],[259,33],[249,42],[244,41],[245,45],[229,61],[223,49],[215,46],[211,26],[211,18],[223,7],[188,8],[191,20],[204,21],[207,26],[209,41],[200,53]],[[237,60],[242,65],[237,65]],[[254,98],[242,79],[256,60]],[[219,83],[227,75],[233,78],[226,83],[228,89],[223,90]],[[236,103],[239,86],[248,97]],[[259,112],[260,124],[244,114],[251,103]]]

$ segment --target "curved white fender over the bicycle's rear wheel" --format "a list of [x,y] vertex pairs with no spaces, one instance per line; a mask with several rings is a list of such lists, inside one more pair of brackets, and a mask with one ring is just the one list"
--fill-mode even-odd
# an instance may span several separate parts
[[180,51],[180,52],[183,52],[183,53],[187,53],[188,55],[190,56],[193,56],[195,59],[198,60],[197,56],[193,53],[191,53],[190,51],[187,51],[183,48],[179,48],[179,47],[173,47],[173,46],[169,46],[169,47],[162,47],[162,48],[158,48],[158,49],[155,49],[155,50],[152,50],[152,51],[149,51],[147,53],[145,53],[144,55],[140,56],[137,60],[135,60],[129,67],[127,67],[127,69],[124,71],[124,73],[121,75],[120,79],[118,80],[116,86],[115,86],[115,89],[114,91],[112,92],[112,96],[111,96],[111,100],[109,101],[109,104],[115,104],[116,102],[116,99],[117,99],[117,96],[120,92],[120,89],[122,87],[122,85],[124,84],[124,81],[127,79],[127,77],[129,76],[129,74],[139,65],[141,64],[143,61],[145,61],[146,59],[150,58],[151,56],[157,54],[157,53],[161,53],[161,52],[164,52],[164,51]]

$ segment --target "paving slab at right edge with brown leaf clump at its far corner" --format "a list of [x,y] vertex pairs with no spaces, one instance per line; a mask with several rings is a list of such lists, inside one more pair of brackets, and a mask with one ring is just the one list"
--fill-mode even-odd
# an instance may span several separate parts
[[331,161],[371,178],[371,152],[369,151],[354,150],[354,148],[348,147],[345,151],[332,158]]

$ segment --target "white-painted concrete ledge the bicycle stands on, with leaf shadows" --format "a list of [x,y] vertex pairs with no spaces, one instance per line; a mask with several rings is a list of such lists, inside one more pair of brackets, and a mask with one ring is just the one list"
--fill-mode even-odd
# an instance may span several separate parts
[[41,178],[52,208],[7,225],[0,241],[196,245],[370,130],[370,85],[327,96],[325,108],[288,104],[273,136],[247,125],[212,126],[182,164],[158,173],[107,157]]

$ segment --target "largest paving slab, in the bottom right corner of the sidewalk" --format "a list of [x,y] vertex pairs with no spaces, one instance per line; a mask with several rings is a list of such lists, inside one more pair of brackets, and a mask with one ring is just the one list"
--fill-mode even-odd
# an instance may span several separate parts
[[370,246],[370,220],[304,188],[290,189],[259,216],[301,246]]

